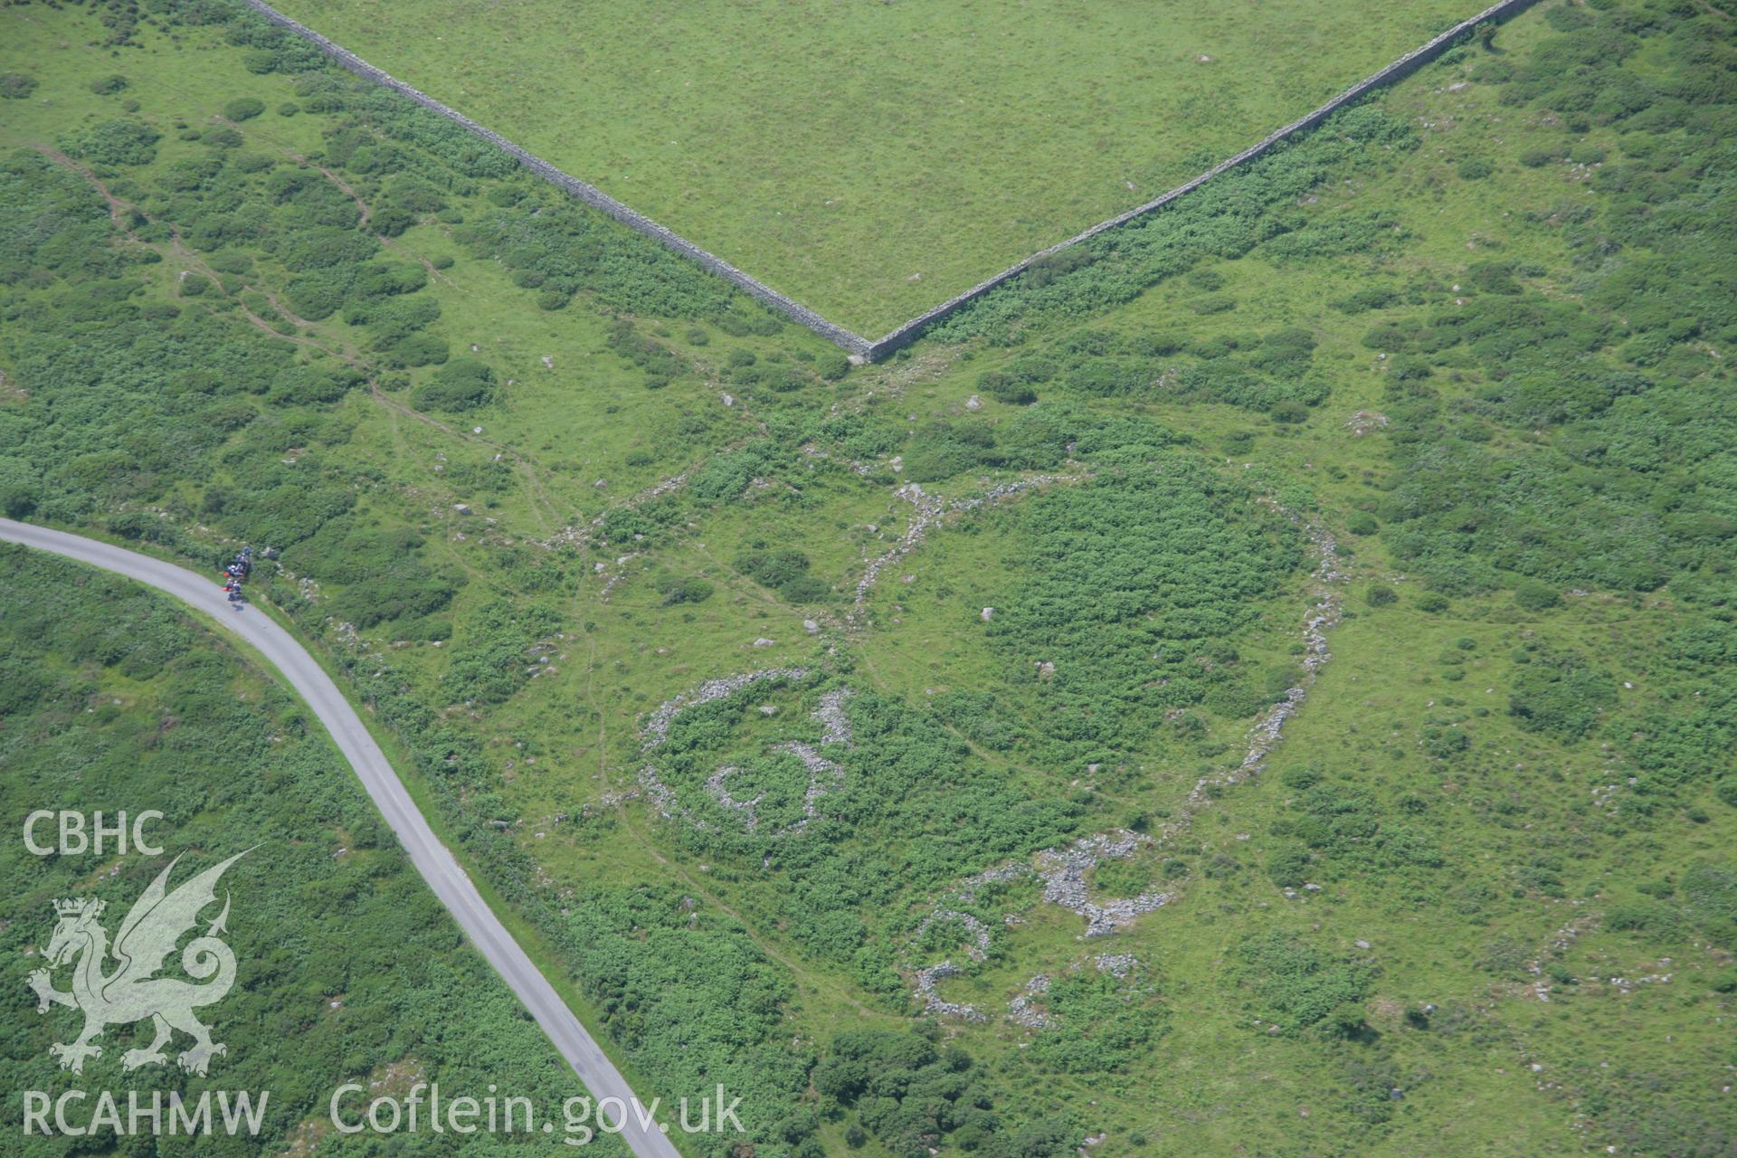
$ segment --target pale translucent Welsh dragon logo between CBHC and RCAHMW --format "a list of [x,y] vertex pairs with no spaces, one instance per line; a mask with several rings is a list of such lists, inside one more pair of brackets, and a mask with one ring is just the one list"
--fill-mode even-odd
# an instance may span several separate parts
[[[222,865],[207,868],[168,892],[168,873],[181,859],[177,856],[134,901],[120,924],[120,932],[115,934],[113,948],[108,943],[108,931],[97,924],[102,901],[78,898],[54,903],[59,922],[45,953],[50,969],[31,970],[30,988],[36,991],[38,1014],[49,1012],[49,1005],[66,1005],[85,1014],[85,1028],[71,1043],[49,1047],[59,1059],[61,1069],[83,1073],[87,1057],[102,1056],[102,1047],[92,1040],[101,1036],[104,1028],[144,1019],[151,1021],[156,1036],[144,1049],[122,1054],[122,1069],[167,1064],[163,1047],[175,1030],[193,1038],[193,1049],[175,1057],[189,1073],[203,1075],[214,1054],[228,1052],[222,1043],[212,1042],[210,1028],[193,1016],[195,1009],[222,1000],[234,984],[234,953],[217,938],[219,932],[226,932],[224,922],[229,918],[228,892],[222,911],[205,927],[205,934],[193,938],[181,950],[181,967],[203,984],[158,977],[156,972],[163,969],[163,958],[174,951],[175,943],[198,924],[200,911],[217,899],[217,878],[243,856],[247,852],[236,852]],[[116,967],[113,972],[104,972],[109,955]],[[73,962],[73,991],[61,993],[54,988],[50,974],[68,962]]]

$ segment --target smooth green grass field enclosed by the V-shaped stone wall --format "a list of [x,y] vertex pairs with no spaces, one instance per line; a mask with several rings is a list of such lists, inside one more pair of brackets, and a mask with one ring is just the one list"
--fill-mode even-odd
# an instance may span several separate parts
[[283,5],[868,337],[1193,177],[1475,9]]

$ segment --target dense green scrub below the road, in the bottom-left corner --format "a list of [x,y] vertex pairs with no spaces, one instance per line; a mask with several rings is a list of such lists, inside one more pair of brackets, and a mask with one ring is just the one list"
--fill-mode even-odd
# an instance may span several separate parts
[[[144,1068],[125,1087],[179,1092],[266,1092],[255,1137],[201,1139],[210,1153],[375,1153],[377,1141],[332,1128],[328,1102],[346,1082],[403,1097],[413,1082],[448,1095],[485,1095],[490,1083],[533,1099],[561,1122],[561,1104],[584,1087],[518,1009],[518,1000],[464,943],[398,851],[349,767],[314,720],[276,682],[250,667],[167,597],[23,547],[0,547],[0,797],[12,818],[38,809],[132,816],[158,809],[146,835],[165,856],[31,856],[5,842],[10,884],[3,917],[9,958],[40,962],[59,898],[97,896],[113,931],[168,858],[210,868],[247,851],[226,875],[233,906],[228,943],[236,984],[201,1010],[228,1052],[210,1073]],[[52,840],[52,826],[38,837]],[[205,913],[210,920],[210,913]],[[165,976],[177,965],[170,958]],[[59,972],[56,984],[66,986]],[[23,984],[19,984],[23,990]],[[149,1026],[109,1026],[102,1057],[82,1078],[56,1069],[50,1042],[71,1040],[76,1014],[9,1002],[0,1019],[14,1090],[120,1089],[122,1052]],[[137,1036],[137,1042],[132,1038]],[[177,1038],[174,1049],[186,1047]],[[122,1094],[123,1106],[125,1095]],[[346,1102],[346,1120],[358,1106]],[[123,1108],[125,1120],[125,1108]],[[73,1113],[76,1122],[76,1109]],[[7,1099],[9,1134],[21,1102]],[[92,1139],[109,1146],[113,1137]],[[499,1135],[464,1153],[521,1153],[537,1135]],[[625,1153],[599,1139],[610,1153]],[[85,1144],[40,1135],[9,1153],[66,1155]],[[394,1141],[417,1155],[459,1153],[453,1135]]]

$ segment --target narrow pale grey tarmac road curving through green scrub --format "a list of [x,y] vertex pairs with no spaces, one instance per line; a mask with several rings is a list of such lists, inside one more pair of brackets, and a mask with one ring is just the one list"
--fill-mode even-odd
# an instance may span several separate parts
[[525,955],[519,943],[483,903],[459,861],[434,837],[422,813],[417,811],[361,717],[344,700],[332,677],[307,655],[307,649],[295,642],[294,635],[257,608],[233,609],[215,578],[195,575],[172,563],[12,519],[0,519],[0,540],[66,556],[168,592],[257,648],[325,724],[344,759],[356,769],[361,786],[368,790],[386,823],[398,833],[410,861],[429,882],[434,896],[453,915],[478,951],[488,958],[488,964],[512,986],[525,1009],[573,1066],[573,1073],[580,1076],[592,1097],[599,1101],[613,1097],[618,1099],[617,1104],[627,1108],[622,1139],[639,1158],[679,1158],[679,1151],[657,1123],[650,1127],[641,1123],[627,1080],[603,1056],[585,1026],[578,1023],[578,1017],[532,964],[532,958]]

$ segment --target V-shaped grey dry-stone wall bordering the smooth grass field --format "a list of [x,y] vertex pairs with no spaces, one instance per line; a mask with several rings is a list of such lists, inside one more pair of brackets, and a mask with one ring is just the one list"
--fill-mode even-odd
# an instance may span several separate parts
[[1174,189],[1171,189],[1169,193],[1164,193],[1164,194],[1160,194],[1160,196],[1146,201],[1145,205],[1136,205],[1134,208],[1131,208],[1131,210],[1127,210],[1124,214],[1117,214],[1115,217],[1110,217],[1108,220],[1100,220],[1091,229],[1086,229],[1084,233],[1077,233],[1072,238],[1068,238],[1067,241],[1058,241],[1056,245],[1051,245],[1047,250],[1039,250],[1037,253],[1032,253],[1030,257],[1027,257],[1025,260],[1021,260],[1021,262],[1018,262],[1014,266],[1007,266],[1006,269],[1002,269],[994,278],[980,281],[978,285],[971,286],[964,293],[959,293],[957,297],[947,299],[945,302],[941,302],[935,309],[929,309],[929,311],[926,311],[922,314],[917,314],[910,321],[903,323],[902,326],[898,326],[896,330],[886,333],[884,337],[881,337],[877,340],[865,339],[860,333],[853,333],[853,332],[846,330],[841,325],[827,321],[825,318],[822,318],[820,314],[816,314],[808,306],[802,306],[801,302],[797,302],[797,300],[794,300],[790,297],[785,297],[778,290],[773,290],[764,281],[759,281],[757,278],[754,278],[754,276],[750,276],[747,273],[742,273],[740,269],[736,269],[735,266],[731,266],[730,262],[726,262],[723,257],[717,257],[716,253],[700,248],[693,241],[688,241],[681,234],[677,234],[677,233],[674,233],[674,231],[660,226],[655,220],[651,220],[650,217],[646,217],[639,210],[631,208],[631,207],[617,201],[615,198],[611,198],[603,189],[599,189],[599,188],[596,188],[592,184],[587,184],[587,182],[580,181],[578,177],[573,177],[573,175],[570,175],[566,172],[561,172],[559,168],[556,168],[549,161],[542,160],[540,156],[537,156],[537,155],[533,155],[533,153],[530,153],[526,149],[521,149],[519,146],[512,144],[511,141],[507,141],[505,137],[502,137],[499,132],[495,132],[492,128],[485,128],[483,125],[478,125],[474,120],[471,120],[464,113],[441,104],[439,101],[436,101],[434,97],[427,95],[420,89],[413,89],[413,87],[406,85],[405,82],[398,80],[396,76],[393,76],[391,73],[386,73],[384,69],[379,69],[373,64],[368,64],[360,56],[356,56],[354,52],[351,52],[349,49],[346,49],[344,45],[339,45],[339,43],[334,43],[332,40],[327,40],[325,36],[321,36],[314,30],[307,28],[306,24],[290,19],[283,12],[278,12],[276,9],[273,9],[264,0],[241,0],[241,3],[245,3],[250,9],[254,9],[255,12],[259,12],[261,16],[264,16],[273,24],[295,33],[302,40],[307,40],[311,45],[314,45],[323,54],[327,54],[328,57],[332,57],[334,61],[337,61],[340,66],[344,66],[351,73],[356,73],[363,80],[372,80],[377,85],[384,85],[386,89],[393,89],[394,92],[401,92],[403,95],[410,97],[412,101],[415,101],[422,108],[426,108],[426,109],[429,109],[433,113],[438,113],[438,115],[445,116],[446,120],[450,120],[452,123],[459,125],[460,128],[464,128],[467,132],[472,132],[478,137],[488,141],[490,144],[493,144],[495,148],[502,149],[504,153],[507,153],[509,156],[512,156],[516,161],[519,161],[521,165],[525,165],[525,168],[532,170],[533,174],[537,174],[544,181],[547,181],[547,182],[551,182],[554,186],[559,186],[561,189],[566,189],[571,196],[578,198],[585,205],[591,205],[592,208],[608,214],[615,220],[618,220],[624,226],[627,226],[629,229],[637,229],[639,233],[646,234],[648,238],[651,238],[651,240],[655,240],[655,241],[658,241],[658,243],[662,243],[662,245],[676,250],[683,257],[686,257],[686,259],[697,262],[698,266],[712,271],[719,278],[724,278],[726,281],[730,281],[730,283],[733,283],[733,285],[747,290],[752,297],[756,297],[757,300],[764,302],[771,309],[778,311],[780,314],[783,314],[790,321],[813,330],[820,337],[823,337],[829,342],[834,342],[834,344],[844,347],[846,351],[849,351],[851,354],[855,354],[856,358],[860,358],[863,361],[875,361],[879,358],[884,358],[886,354],[891,354],[891,352],[895,352],[898,349],[903,349],[905,345],[910,345],[914,340],[917,340],[917,335],[921,335],[931,325],[935,325],[936,321],[941,321],[945,318],[950,318],[952,314],[959,313],[962,307],[966,307],[968,304],[971,304],[976,299],[983,297],[985,293],[988,293],[990,290],[994,290],[997,285],[1007,281],[1009,278],[1020,276],[1021,273],[1025,273],[1032,266],[1032,262],[1042,260],[1044,257],[1049,257],[1051,253],[1060,253],[1061,250],[1065,250],[1065,248],[1068,248],[1072,245],[1079,245],[1080,241],[1086,241],[1089,238],[1094,238],[1100,233],[1105,233],[1106,229],[1115,229],[1117,226],[1126,226],[1127,222],[1134,220],[1136,217],[1145,217],[1146,214],[1152,214],[1155,210],[1164,208],[1166,205],[1169,205],[1176,198],[1199,189],[1200,186],[1204,186],[1212,177],[1218,177],[1219,174],[1230,172],[1232,168],[1235,168],[1238,165],[1252,161],[1254,158],[1261,156],[1263,153],[1266,153],[1268,149],[1271,149],[1275,144],[1278,144],[1282,141],[1289,141],[1291,137],[1294,137],[1298,134],[1304,134],[1310,128],[1315,128],[1324,120],[1327,120],[1329,116],[1332,116],[1334,113],[1337,113],[1341,108],[1344,108],[1344,106],[1348,106],[1348,104],[1362,99],[1369,92],[1372,92],[1376,89],[1381,89],[1383,85],[1390,85],[1390,83],[1393,83],[1397,80],[1402,80],[1402,78],[1412,75],[1421,66],[1424,66],[1430,61],[1433,61],[1435,57],[1442,56],[1449,47],[1452,47],[1452,43],[1456,40],[1459,40],[1461,36],[1464,36],[1466,33],[1470,33],[1471,30],[1475,30],[1478,24],[1504,21],[1504,19],[1515,16],[1516,12],[1520,12],[1522,9],[1529,7],[1530,3],[1534,3],[1534,0],[1499,0],[1497,3],[1492,3],[1490,7],[1483,9],[1476,16],[1466,17],[1461,23],[1454,24],[1452,28],[1449,28],[1447,31],[1443,31],[1438,36],[1431,38],[1428,43],[1424,43],[1424,45],[1421,45],[1417,49],[1412,49],[1410,52],[1407,52],[1400,59],[1393,61],[1391,64],[1388,64],[1381,71],[1377,71],[1377,73],[1374,73],[1374,75],[1360,80],[1358,83],[1351,85],[1350,89],[1346,89],[1339,95],[1336,95],[1331,101],[1327,101],[1325,104],[1322,104],[1313,113],[1299,116],[1298,120],[1291,122],[1284,128],[1278,128],[1278,130],[1268,134],[1259,142],[1249,146],[1242,153],[1237,153],[1235,156],[1219,161],[1218,165],[1214,165],[1207,172],[1200,174],[1193,181],[1179,184]]

